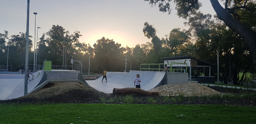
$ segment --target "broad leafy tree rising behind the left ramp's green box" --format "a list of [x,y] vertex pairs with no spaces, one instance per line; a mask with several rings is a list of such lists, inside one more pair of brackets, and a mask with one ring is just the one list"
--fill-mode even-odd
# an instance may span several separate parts
[[77,53],[75,47],[76,43],[79,43],[80,32],[75,31],[70,34],[62,26],[52,25],[51,29],[46,32],[46,36],[45,45],[50,55],[48,59],[52,61],[52,64],[60,65],[64,54],[64,65],[67,65],[67,61]]

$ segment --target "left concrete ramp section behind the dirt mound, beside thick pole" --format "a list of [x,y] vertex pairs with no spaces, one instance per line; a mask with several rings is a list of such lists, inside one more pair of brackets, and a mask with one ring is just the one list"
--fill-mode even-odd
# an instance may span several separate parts
[[[89,86],[79,71],[37,71],[33,75],[34,79],[27,83],[27,94],[41,89],[49,82],[80,82]],[[24,96],[24,75],[0,75],[0,100],[15,99],[22,96]]]

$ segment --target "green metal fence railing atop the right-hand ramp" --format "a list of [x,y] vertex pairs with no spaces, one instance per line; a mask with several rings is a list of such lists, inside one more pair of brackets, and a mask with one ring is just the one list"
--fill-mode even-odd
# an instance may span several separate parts
[[[140,64],[140,71],[147,70],[147,71],[162,71],[164,69],[164,65],[169,65],[168,72],[175,72],[175,71],[184,71],[187,72],[187,63],[170,63],[170,64]],[[174,66],[173,66],[174,65]],[[176,66],[175,66],[176,65]],[[178,65],[178,66],[177,66]],[[181,65],[181,66],[180,66]],[[183,66],[182,66],[183,65]],[[182,68],[173,68],[173,67],[185,67]]]

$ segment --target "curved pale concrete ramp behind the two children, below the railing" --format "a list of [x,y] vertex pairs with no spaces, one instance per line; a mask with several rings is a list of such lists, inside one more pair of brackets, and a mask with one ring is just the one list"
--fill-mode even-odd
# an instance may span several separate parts
[[86,83],[100,92],[112,93],[113,88],[133,88],[136,74],[139,74],[140,88],[143,90],[148,91],[156,86],[166,84],[165,72],[152,71],[107,72],[107,83],[101,83],[103,76],[96,80],[86,80]]

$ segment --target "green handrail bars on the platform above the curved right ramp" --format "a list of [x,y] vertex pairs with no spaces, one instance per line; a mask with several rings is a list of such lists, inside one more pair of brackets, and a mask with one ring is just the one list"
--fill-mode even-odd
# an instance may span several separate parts
[[[173,64],[184,64],[185,67],[186,67],[186,69],[172,69],[172,67],[173,67],[172,65],[173,65]],[[142,65],[148,65],[148,68],[141,68]],[[150,68],[150,65],[158,65],[158,68]],[[163,69],[160,68],[160,65],[170,65],[170,69],[168,69],[169,72],[174,72],[175,70],[184,70],[185,72],[187,72],[187,63],[140,64],[140,71],[141,71],[141,70],[148,70],[148,71],[150,71],[150,70],[158,70],[158,71],[163,70]],[[151,67],[152,67],[152,66],[151,66]]]

